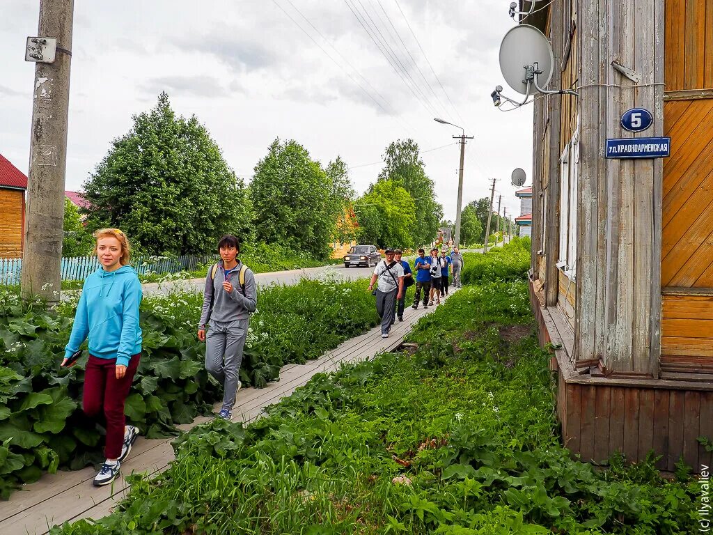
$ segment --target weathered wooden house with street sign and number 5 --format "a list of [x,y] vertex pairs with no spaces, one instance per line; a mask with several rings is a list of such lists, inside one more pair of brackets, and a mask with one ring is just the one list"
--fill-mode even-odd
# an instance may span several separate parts
[[[535,98],[533,116],[530,297],[558,347],[563,442],[587,461],[653,450],[664,471],[682,458],[699,472],[713,439],[713,0],[534,4],[520,24],[550,39],[548,89],[579,93]],[[648,131],[622,128],[631,108],[651,112]],[[652,136],[670,136],[669,157],[605,157],[607,139]]]

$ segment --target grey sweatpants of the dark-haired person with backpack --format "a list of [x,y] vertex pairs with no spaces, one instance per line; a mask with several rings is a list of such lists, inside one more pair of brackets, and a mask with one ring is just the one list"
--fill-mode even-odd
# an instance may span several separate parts
[[247,319],[235,320],[232,323],[211,320],[205,333],[205,370],[215,377],[215,380],[222,382],[222,408],[229,411],[235,405],[248,322],[250,320]]

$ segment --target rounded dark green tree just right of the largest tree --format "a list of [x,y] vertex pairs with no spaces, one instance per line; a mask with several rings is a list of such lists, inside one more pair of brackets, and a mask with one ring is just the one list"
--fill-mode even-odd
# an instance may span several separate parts
[[326,258],[334,230],[332,195],[332,182],[307,149],[275,139],[250,183],[257,238]]

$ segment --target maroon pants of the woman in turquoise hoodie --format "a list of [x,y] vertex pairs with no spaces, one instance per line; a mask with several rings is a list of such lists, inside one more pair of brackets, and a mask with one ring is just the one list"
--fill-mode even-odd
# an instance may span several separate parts
[[133,355],[121,379],[116,378],[116,359],[100,359],[89,355],[84,374],[84,414],[96,417],[104,410],[106,421],[107,459],[116,459],[121,454],[124,442],[124,401],[128,396],[133,376],[138,368],[140,354]]

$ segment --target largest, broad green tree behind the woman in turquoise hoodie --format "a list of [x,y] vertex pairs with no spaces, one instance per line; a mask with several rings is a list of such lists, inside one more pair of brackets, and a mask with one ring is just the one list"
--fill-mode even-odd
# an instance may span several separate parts
[[208,253],[223,234],[250,235],[245,184],[195,116],[175,116],[166,93],[133,116],[84,189],[89,227],[119,227],[143,253]]

